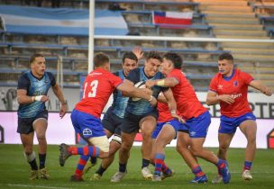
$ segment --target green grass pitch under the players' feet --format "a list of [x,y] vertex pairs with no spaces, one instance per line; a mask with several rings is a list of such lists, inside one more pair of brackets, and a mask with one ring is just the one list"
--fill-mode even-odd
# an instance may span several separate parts
[[[216,152],[216,148],[211,148]],[[36,155],[37,146],[35,146]],[[30,166],[23,157],[22,145],[0,145],[0,188],[46,188],[46,189],[65,189],[65,188],[100,188],[100,189],[172,189],[172,188],[274,188],[274,151],[271,149],[258,149],[252,168],[252,181],[242,180],[242,166],[244,157],[243,148],[231,148],[229,150],[229,165],[232,173],[230,184],[211,184],[215,178],[216,167],[202,159],[199,163],[203,171],[209,178],[207,184],[188,184],[194,175],[187,167],[184,160],[178,155],[175,148],[166,149],[166,162],[175,170],[173,177],[167,178],[162,182],[145,181],[141,175],[141,148],[134,147],[128,163],[128,174],[120,183],[110,183],[110,177],[118,170],[117,156],[114,164],[109,167],[100,181],[90,181],[86,178],[85,182],[73,183],[69,181],[70,175],[74,174],[78,163],[78,156],[69,157],[64,167],[59,166],[59,147],[50,145],[47,154],[47,168],[50,173],[49,180],[29,181]],[[97,166],[93,167],[87,176],[92,176]],[[151,171],[153,168],[151,166]]]

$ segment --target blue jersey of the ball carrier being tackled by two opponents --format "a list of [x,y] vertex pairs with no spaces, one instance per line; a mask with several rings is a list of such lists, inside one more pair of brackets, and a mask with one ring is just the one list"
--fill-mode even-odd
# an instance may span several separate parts
[[[134,85],[140,81],[147,81],[147,80],[155,80],[155,79],[162,79],[164,76],[160,73],[157,72],[155,76],[148,77],[144,73],[144,67],[137,67],[133,69],[130,73],[129,76],[126,77],[129,81],[131,81]],[[161,86],[153,86],[152,91],[153,91],[153,96],[157,99],[158,94],[160,94],[161,91],[167,90],[167,87],[161,87]],[[139,101],[132,101],[132,98],[129,99],[126,111],[131,112],[134,115],[143,115],[148,112],[152,112],[156,107],[152,107],[151,103],[146,100],[139,100]]]

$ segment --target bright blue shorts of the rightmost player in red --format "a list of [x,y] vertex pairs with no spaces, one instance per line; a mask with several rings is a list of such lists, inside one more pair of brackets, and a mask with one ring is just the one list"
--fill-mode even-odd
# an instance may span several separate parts
[[253,120],[256,121],[256,117],[253,113],[248,112],[239,117],[230,118],[227,116],[221,116],[221,124],[219,127],[219,133],[232,134],[243,121]]

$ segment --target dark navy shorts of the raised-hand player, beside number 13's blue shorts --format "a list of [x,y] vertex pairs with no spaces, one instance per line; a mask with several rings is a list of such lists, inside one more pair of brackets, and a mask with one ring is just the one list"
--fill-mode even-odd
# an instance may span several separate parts
[[123,118],[118,117],[113,112],[114,108],[111,106],[105,112],[102,120],[105,130],[109,130],[111,133],[121,136],[121,126]]

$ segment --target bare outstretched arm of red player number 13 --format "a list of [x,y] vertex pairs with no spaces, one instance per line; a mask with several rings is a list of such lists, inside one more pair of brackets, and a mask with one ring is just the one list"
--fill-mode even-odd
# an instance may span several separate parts
[[143,89],[134,87],[133,83],[127,79],[124,79],[123,83],[117,86],[117,89],[120,90],[125,96],[142,98],[151,102],[151,105],[157,104],[157,100],[154,96],[149,93],[144,93]]

